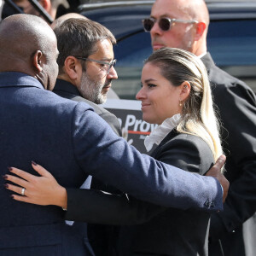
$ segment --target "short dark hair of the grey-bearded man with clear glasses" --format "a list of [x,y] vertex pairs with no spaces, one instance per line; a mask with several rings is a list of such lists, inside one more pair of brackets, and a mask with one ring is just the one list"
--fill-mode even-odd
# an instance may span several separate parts
[[112,44],[116,40],[107,27],[89,19],[71,18],[61,22],[54,29],[60,55],[57,63],[62,67],[67,56],[83,56],[87,58],[96,51],[96,43],[109,39]]

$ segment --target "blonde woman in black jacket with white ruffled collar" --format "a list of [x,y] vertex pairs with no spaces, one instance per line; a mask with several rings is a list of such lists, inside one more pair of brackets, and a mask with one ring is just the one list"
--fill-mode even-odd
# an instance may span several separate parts
[[[137,100],[142,102],[143,119],[159,125],[145,139],[154,159],[204,175],[222,154],[207,71],[195,55],[182,49],[155,51],[145,61]],[[59,186],[55,180],[50,185]],[[67,195],[67,219],[125,224],[117,255],[207,255],[209,212],[157,207],[85,189],[67,189]],[[210,201],[206,204],[213,207]]]

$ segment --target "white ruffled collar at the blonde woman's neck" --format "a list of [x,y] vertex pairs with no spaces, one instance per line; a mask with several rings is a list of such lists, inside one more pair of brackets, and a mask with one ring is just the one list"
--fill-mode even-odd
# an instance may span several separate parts
[[180,113],[172,116],[172,118],[165,119],[161,125],[156,127],[144,140],[144,145],[149,152],[153,145],[159,145],[166,135],[175,128],[180,121]]

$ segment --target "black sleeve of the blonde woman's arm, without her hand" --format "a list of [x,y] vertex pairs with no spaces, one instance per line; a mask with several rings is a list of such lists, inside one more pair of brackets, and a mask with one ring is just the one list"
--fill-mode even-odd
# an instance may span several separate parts
[[128,197],[126,194],[113,195],[92,189],[67,189],[65,218],[96,224],[141,224],[165,209]]

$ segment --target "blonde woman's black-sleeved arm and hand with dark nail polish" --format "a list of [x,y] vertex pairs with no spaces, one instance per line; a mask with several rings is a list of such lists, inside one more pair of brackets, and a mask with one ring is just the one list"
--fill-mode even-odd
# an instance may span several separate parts
[[[5,178],[20,185],[7,184],[9,190],[25,196],[12,195],[17,201],[24,201],[42,206],[55,205],[67,209],[66,219],[97,224],[140,224],[164,211],[165,207],[128,198],[127,195],[112,195],[100,190],[65,189],[56,182],[44,167],[32,162],[32,167],[41,177],[10,168],[13,175]],[[22,178],[20,178],[22,177]]]

